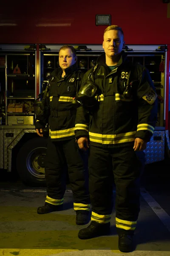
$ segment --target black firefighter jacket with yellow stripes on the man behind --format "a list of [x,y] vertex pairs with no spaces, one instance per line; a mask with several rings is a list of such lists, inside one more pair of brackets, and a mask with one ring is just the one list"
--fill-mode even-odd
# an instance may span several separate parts
[[[51,73],[53,79],[50,83],[47,96],[47,105],[49,107],[48,116],[46,116],[44,122],[37,120],[35,125],[36,128],[40,129],[44,128],[48,122],[51,140],[68,140],[74,137],[77,110],[72,104],[72,99],[79,89],[77,88],[78,73],[76,64],[65,70],[65,76],[63,78],[61,68]],[[82,76],[83,73],[79,73],[79,79],[82,79]]]

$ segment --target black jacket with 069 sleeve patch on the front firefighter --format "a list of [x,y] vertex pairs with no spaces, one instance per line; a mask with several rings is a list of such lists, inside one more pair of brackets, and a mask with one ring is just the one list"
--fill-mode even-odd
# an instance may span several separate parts
[[[132,145],[136,137],[150,141],[157,119],[157,94],[148,70],[131,64],[124,51],[111,72],[105,54],[99,56],[97,64],[94,82],[98,102],[93,110],[77,109],[76,138],[89,136],[90,143],[98,146]],[[91,71],[85,73],[82,84]],[[129,74],[131,95],[125,98]]]

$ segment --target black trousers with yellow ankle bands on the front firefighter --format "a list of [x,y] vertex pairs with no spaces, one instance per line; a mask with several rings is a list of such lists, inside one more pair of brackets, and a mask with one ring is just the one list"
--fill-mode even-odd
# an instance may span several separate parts
[[91,220],[111,220],[113,179],[116,186],[116,230],[133,234],[140,210],[141,163],[132,146],[90,146],[88,159]]

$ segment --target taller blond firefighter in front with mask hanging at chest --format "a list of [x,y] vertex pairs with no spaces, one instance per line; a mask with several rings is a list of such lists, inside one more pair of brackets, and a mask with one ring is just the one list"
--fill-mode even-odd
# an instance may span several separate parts
[[[139,215],[140,162],[153,135],[157,95],[148,70],[131,63],[119,26],[105,29],[103,49],[94,70],[88,70],[77,94],[75,135],[79,148],[89,152],[91,223],[78,233],[91,239],[110,233],[112,177],[116,185],[116,230],[119,250],[134,249],[133,233]],[[96,103],[95,103],[96,102]],[[112,164],[113,173],[109,166]]]

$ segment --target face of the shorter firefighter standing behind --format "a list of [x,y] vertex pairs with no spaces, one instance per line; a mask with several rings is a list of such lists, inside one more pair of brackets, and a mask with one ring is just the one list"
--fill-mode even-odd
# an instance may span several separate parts
[[74,56],[71,49],[63,49],[59,51],[59,66],[62,70],[65,70],[68,67],[73,66],[76,63],[76,56]]

